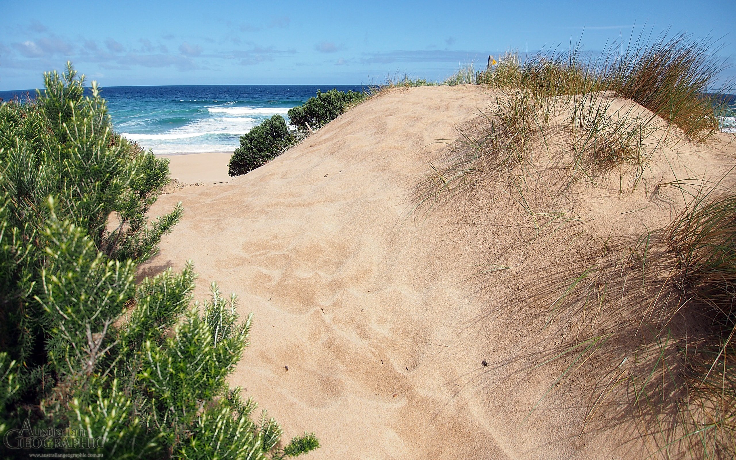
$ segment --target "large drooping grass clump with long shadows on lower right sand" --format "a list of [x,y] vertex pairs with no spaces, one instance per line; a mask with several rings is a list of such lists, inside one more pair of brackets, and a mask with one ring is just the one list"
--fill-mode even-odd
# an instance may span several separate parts
[[[623,322],[553,359],[580,351],[579,361],[584,345],[602,347],[601,337],[618,342],[633,333],[640,347],[622,350],[621,364],[598,382],[584,425],[604,410],[618,386],[626,389],[629,410],[640,417],[654,446],[648,458],[733,459],[736,193],[724,191],[720,181],[683,193],[689,202],[664,229],[645,233],[631,247],[619,244],[615,250],[623,257],[608,261],[609,241],[604,241],[601,257],[560,286],[547,324],[563,309],[575,317],[571,325],[592,324],[604,311]],[[631,321],[635,328],[629,328]],[[567,368],[559,380],[576,370]]]

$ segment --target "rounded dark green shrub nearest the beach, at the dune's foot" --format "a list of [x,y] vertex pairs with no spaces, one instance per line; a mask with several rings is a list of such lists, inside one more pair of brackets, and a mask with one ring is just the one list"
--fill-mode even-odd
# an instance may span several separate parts
[[252,171],[276,158],[289,144],[291,133],[286,121],[280,115],[272,116],[241,136],[240,146],[230,157],[227,174],[238,176]]

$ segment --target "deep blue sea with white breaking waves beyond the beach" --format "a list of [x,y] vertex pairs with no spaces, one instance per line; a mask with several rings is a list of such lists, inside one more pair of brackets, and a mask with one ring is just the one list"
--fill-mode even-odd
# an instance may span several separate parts
[[[302,105],[317,90],[345,85],[112,86],[102,88],[113,129],[156,154],[233,152],[241,135]],[[21,91],[0,91],[13,99]],[[31,92],[33,95],[34,92]]]

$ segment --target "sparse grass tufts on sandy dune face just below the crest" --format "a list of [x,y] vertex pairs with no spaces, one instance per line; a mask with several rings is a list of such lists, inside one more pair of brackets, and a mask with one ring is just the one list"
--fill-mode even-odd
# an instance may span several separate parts
[[620,193],[634,190],[664,134],[657,135],[655,116],[643,112],[612,93],[545,98],[530,88],[503,89],[459,128],[459,138],[430,164],[417,194],[425,203],[490,180],[511,185],[522,178],[528,184],[548,174],[555,174],[561,190],[612,180]]

